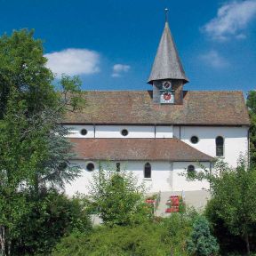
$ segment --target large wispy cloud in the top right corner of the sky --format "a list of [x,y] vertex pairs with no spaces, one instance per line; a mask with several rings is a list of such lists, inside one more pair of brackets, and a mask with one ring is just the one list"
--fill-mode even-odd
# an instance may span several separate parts
[[223,4],[217,17],[204,25],[204,33],[216,40],[226,40],[228,36],[244,39],[242,31],[256,17],[256,0],[233,1]]

